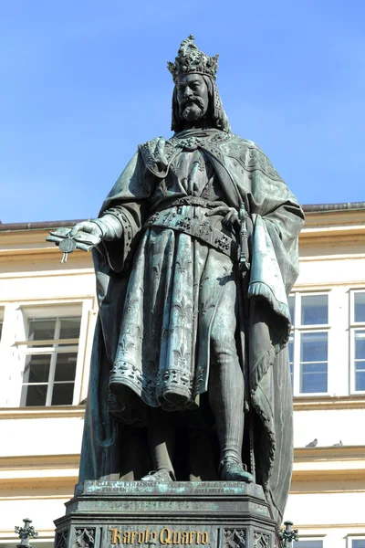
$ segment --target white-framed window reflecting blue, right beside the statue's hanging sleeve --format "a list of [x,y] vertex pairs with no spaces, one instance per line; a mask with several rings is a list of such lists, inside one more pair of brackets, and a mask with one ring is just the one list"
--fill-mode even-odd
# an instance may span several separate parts
[[294,395],[328,393],[328,293],[289,297],[288,342]]

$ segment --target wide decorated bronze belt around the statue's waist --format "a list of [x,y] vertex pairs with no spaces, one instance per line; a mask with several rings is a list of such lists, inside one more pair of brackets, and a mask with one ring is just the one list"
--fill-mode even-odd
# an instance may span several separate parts
[[204,244],[224,253],[233,261],[238,262],[239,260],[240,248],[237,242],[221,230],[212,227],[209,221],[202,222],[194,217],[180,216],[174,211],[161,211],[153,214],[144,227],[171,228],[177,232],[189,234],[201,240]]

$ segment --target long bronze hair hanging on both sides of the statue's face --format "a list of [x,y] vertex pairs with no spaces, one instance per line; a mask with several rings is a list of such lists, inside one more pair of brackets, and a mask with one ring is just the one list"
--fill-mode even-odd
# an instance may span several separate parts
[[[222,132],[231,133],[231,125],[228,121],[228,118],[224,112],[221,96],[219,95],[218,88],[210,76],[205,74],[201,75],[207,90],[209,98],[208,110],[210,110],[213,127]],[[177,87],[175,86],[172,94],[172,132],[180,133],[183,132],[184,119],[181,117],[179,112],[179,103],[177,101]]]

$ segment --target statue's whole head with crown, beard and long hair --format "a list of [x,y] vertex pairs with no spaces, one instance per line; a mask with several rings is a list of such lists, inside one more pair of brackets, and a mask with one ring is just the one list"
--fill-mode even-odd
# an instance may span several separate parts
[[194,43],[183,40],[174,63],[168,63],[175,88],[172,96],[172,132],[181,132],[201,119],[207,127],[230,132],[215,78],[218,55],[205,55]]

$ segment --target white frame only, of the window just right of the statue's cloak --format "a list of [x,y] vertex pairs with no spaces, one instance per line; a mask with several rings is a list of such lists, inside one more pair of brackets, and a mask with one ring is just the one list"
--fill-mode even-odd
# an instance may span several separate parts
[[[326,295],[328,297],[328,323],[318,323],[315,325],[301,324],[301,298]],[[293,335],[293,395],[300,397],[328,396],[330,394],[330,348],[331,348],[331,290],[306,291],[297,290],[290,294],[294,297],[294,322],[291,329]],[[301,392],[301,363],[300,363],[300,338],[302,333],[306,332],[327,332],[328,333],[328,358],[327,358],[327,391],[326,392]]]

